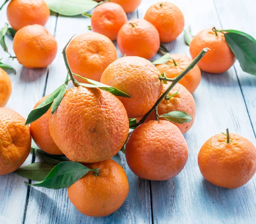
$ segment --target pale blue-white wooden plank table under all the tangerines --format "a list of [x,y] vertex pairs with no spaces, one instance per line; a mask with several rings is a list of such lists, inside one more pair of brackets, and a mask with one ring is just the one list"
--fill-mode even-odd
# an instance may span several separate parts
[[[146,9],[157,2],[142,0],[139,8],[128,14],[128,19],[143,18]],[[185,16],[185,28],[192,33],[216,26],[238,29],[256,37],[256,4],[254,0],[173,0]],[[3,0],[0,1],[3,3]],[[0,11],[0,26],[6,19],[6,6]],[[3,62],[17,69],[10,74],[13,92],[7,104],[27,117],[35,103],[64,82],[67,70],[61,50],[73,34],[87,31],[90,19],[64,17],[55,13],[46,28],[55,35],[58,54],[49,68],[27,69],[0,50]],[[12,41],[7,45],[12,52]],[[116,45],[116,42],[114,42]],[[189,56],[183,33],[166,44],[171,53]],[[118,54],[119,57],[122,55]],[[1,58],[0,57],[0,58]],[[160,57],[157,55],[155,58]],[[194,126],[185,134],[189,159],[183,171],[169,181],[139,179],[128,168],[125,156],[119,152],[114,159],[124,167],[130,192],[122,207],[103,218],[87,217],[79,213],[67,197],[67,190],[28,187],[28,181],[14,173],[0,176],[1,224],[77,224],[77,223],[255,223],[256,176],[244,186],[228,190],[216,187],[201,176],[197,156],[202,144],[212,135],[238,133],[256,145],[256,77],[244,73],[239,63],[224,74],[202,72],[202,80],[193,94],[197,105]],[[29,155],[25,164],[38,161]],[[157,167],[156,167],[157,168]],[[90,201],[88,201],[90,203]]]

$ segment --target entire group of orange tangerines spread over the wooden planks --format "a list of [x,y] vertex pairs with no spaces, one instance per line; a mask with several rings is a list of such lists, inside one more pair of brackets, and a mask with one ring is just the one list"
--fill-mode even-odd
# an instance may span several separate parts
[[[173,41],[181,34],[183,14],[174,4],[159,2],[149,7],[144,19],[128,21],[125,13],[136,9],[140,2],[112,0],[93,10],[93,32],[76,36],[65,51],[74,87],[58,99],[54,113],[47,108],[30,127],[24,125],[26,120],[20,114],[4,108],[12,85],[7,73],[0,69],[0,175],[23,164],[32,136],[46,153],[64,154],[70,161],[99,169],[72,184],[68,196],[81,213],[105,216],[116,211],[128,195],[125,171],[110,159],[124,145],[128,166],[138,177],[168,180],[180,173],[188,159],[183,134],[194,123],[196,105],[192,94],[201,80],[200,68],[222,73],[233,65],[235,56],[223,33],[205,29],[193,38],[190,53],[196,60],[203,48],[211,51],[178,80],[179,74],[193,64],[192,59],[170,54],[156,66],[149,59],[159,50],[160,42]],[[13,49],[17,60],[27,68],[44,68],[55,58],[57,42],[44,28],[49,13],[44,0],[9,3],[7,17],[17,31]],[[117,40],[124,57],[117,59],[112,40]],[[89,79],[97,81],[99,87],[99,82],[104,85],[94,88],[88,84]],[[130,97],[115,96],[105,91],[105,85]],[[34,109],[49,96],[39,100]],[[180,111],[191,119],[165,119],[170,112]],[[128,136],[129,121],[134,119],[137,123],[130,128],[135,129]],[[256,172],[256,149],[249,140],[227,130],[227,134],[205,142],[198,154],[198,165],[212,184],[240,187]]]

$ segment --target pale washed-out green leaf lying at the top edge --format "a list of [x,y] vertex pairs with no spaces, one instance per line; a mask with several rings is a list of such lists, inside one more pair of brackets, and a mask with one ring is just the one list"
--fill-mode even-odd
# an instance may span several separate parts
[[75,16],[90,11],[98,5],[93,0],[46,0],[49,9],[64,16]]

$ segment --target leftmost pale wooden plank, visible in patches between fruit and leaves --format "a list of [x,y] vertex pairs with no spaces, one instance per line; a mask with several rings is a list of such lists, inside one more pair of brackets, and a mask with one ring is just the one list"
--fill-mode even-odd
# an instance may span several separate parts
[[[2,4],[1,1],[0,4]],[[6,6],[0,11],[0,27],[8,23],[6,18]],[[55,30],[56,17],[52,14],[46,28],[53,34]],[[12,50],[12,40],[6,38],[9,52],[14,55]],[[6,107],[20,113],[25,118],[34,107],[35,103],[41,99],[46,86],[47,73],[49,68],[27,69],[20,65],[17,60],[9,59],[9,55],[0,48],[1,62],[12,65],[17,74],[10,73],[12,81],[12,95]],[[23,165],[30,164],[32,153]],[[15,224],[22,223],[24,210],[27,202],[28,186],[24,183],[28,181],[15,173],[0,176],[0,223]]]

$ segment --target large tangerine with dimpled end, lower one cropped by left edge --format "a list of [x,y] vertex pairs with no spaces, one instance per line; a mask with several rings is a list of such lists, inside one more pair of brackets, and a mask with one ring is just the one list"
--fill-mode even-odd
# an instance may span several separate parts
[[17,170],[29,156],[31,135],[19,113],[0,108],[0,175]]

